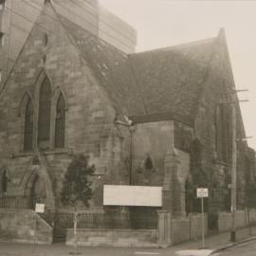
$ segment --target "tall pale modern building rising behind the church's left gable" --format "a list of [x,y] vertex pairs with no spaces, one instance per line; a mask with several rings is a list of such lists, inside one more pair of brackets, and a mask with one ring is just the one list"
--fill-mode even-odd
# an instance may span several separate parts
[[[109,10],[103,9],[98,1],[54,0],[52,4],[62,16],[98,35],[102,40],[126,53],[135,52],[136,30]],[[44,0],[28,0],[26,3],[9,0],[5,5],[7,9],[0,11],[0,31],[5,34],[5,45],[0,51],[3,83],[43,9]],[[47,19],[54,22],[55,18],[48,15]]]

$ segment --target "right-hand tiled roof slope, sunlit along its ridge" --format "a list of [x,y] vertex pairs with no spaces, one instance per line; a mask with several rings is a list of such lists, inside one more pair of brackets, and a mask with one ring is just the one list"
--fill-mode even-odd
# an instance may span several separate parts
[[191,117],[206,81],[215,38],[130,56],[146,112]]

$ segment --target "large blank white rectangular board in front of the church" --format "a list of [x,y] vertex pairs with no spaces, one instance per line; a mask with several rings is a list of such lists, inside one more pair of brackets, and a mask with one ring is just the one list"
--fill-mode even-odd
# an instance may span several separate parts
[[161,207],[162,187],[104,185],[103,205]]

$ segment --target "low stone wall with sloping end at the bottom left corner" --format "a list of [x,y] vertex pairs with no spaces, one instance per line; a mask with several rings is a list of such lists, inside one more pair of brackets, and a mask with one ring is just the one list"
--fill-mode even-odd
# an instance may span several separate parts
[[[0,241],[32,244],[34,242],[35,213],[33,210],[0,209]],[[37,244],[52,243],[52,228],[37,215]]]

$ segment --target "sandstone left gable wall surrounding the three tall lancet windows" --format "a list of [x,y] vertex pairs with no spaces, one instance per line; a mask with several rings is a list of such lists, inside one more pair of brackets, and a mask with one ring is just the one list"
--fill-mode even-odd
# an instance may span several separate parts
[[[46,8],[47,15],[56,15]],[[93,190],[96,192],[92,207],[102,207],[102,184],[117,174],[114,161],[119,161],[119,153],[113,152],[115,137],[113,119],[115,111],[99,88],[86,64],[82,64],[79,53],[66,37],[61,23],[52,22],[42,16],[34,27],[12,70],[5,90],[0,98],[0,158],[1,165],[8,170],[9,194],[25,194],[26,184],[33,172],[31,166],[33,152],[23,151],[24,99],[31,98],[38,113],[40,81],[47,76],[52,86],[52,111],[50,146],[44,153],[47,173],[58,197],[64,172],[73,153],[90,156],[90,164],[95,164]],[[47,29],[55,31],[44,38]],[[56,33],[59,35],[56,35]],[[58,94],[66,99],[64,149],[54,147],[54,102]],[[37,121],[34,121],[34,144],[36,143]],[[118,139],[118,138],[117,138]],[[5,145],[5,146],[3,146]],[[114,167],[113,167],[114,166]],[[119,168],[119,172],[120,172]],[[112,173],[113,172],[113,173]],[[100,177],[100,178],[99,178]],[[46,182],[46,180],[45,180]],[[29,188],[27,188],[29,191]]]

